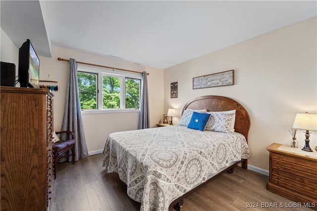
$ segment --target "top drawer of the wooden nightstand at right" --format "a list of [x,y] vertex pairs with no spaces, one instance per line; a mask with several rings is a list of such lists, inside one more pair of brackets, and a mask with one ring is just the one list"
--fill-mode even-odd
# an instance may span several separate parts
[[[317,172],[317,163],[310,162],[310,161],[304,161],[301,162],[298,158],[292,158],[290,156],[286,155],[280,155],[280,154],[272,154],[272,162],[281,162],[281,165],[286,165],[287,167],[297,168],[298,165],[300,166],[299,169],[303,169],[304,167],[307,167],[306,169],[312,169],[314,171],[314,174]],[[282,163],[284,161],[284,163]],[[297,164],[297,165],[296,165]],[[298,168],[297,168],[298,169]]]

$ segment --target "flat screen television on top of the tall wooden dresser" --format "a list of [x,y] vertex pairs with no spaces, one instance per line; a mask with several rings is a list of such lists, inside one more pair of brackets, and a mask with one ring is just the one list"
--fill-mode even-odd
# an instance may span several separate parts
[[26,40],[19,48],[20,87],[39,88],[40,60],[32,43]]

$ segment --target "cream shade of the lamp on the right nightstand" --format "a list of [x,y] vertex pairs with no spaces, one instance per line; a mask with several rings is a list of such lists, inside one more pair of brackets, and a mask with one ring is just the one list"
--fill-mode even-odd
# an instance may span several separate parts
[[304,130],[317,130],[317,114],[298,113],[296,114],[293,128]]

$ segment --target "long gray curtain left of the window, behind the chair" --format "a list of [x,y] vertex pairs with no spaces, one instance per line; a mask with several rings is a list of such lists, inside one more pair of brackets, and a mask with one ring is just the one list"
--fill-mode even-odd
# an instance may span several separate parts
[[[77,63],[76,60],[72,58],[69,59],[65,113],[61,129],[70,130],[75,134],[75,161],[78,161],[78,158],[87,158],[88,150],[80,111]],[[67,134],[62,133],[61,135],[64,136],[61,136],[61,138],[66,138]],[[69,150],[69,153],[71,153],[71,150]],[[68,157],[68,161],[72,161],[72,156]]]

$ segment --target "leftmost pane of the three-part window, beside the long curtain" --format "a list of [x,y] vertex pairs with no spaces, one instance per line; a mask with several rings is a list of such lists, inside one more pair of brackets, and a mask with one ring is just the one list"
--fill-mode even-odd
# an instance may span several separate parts
[[81,109],[97,108],[97,74],[78,72],[78,87]]

